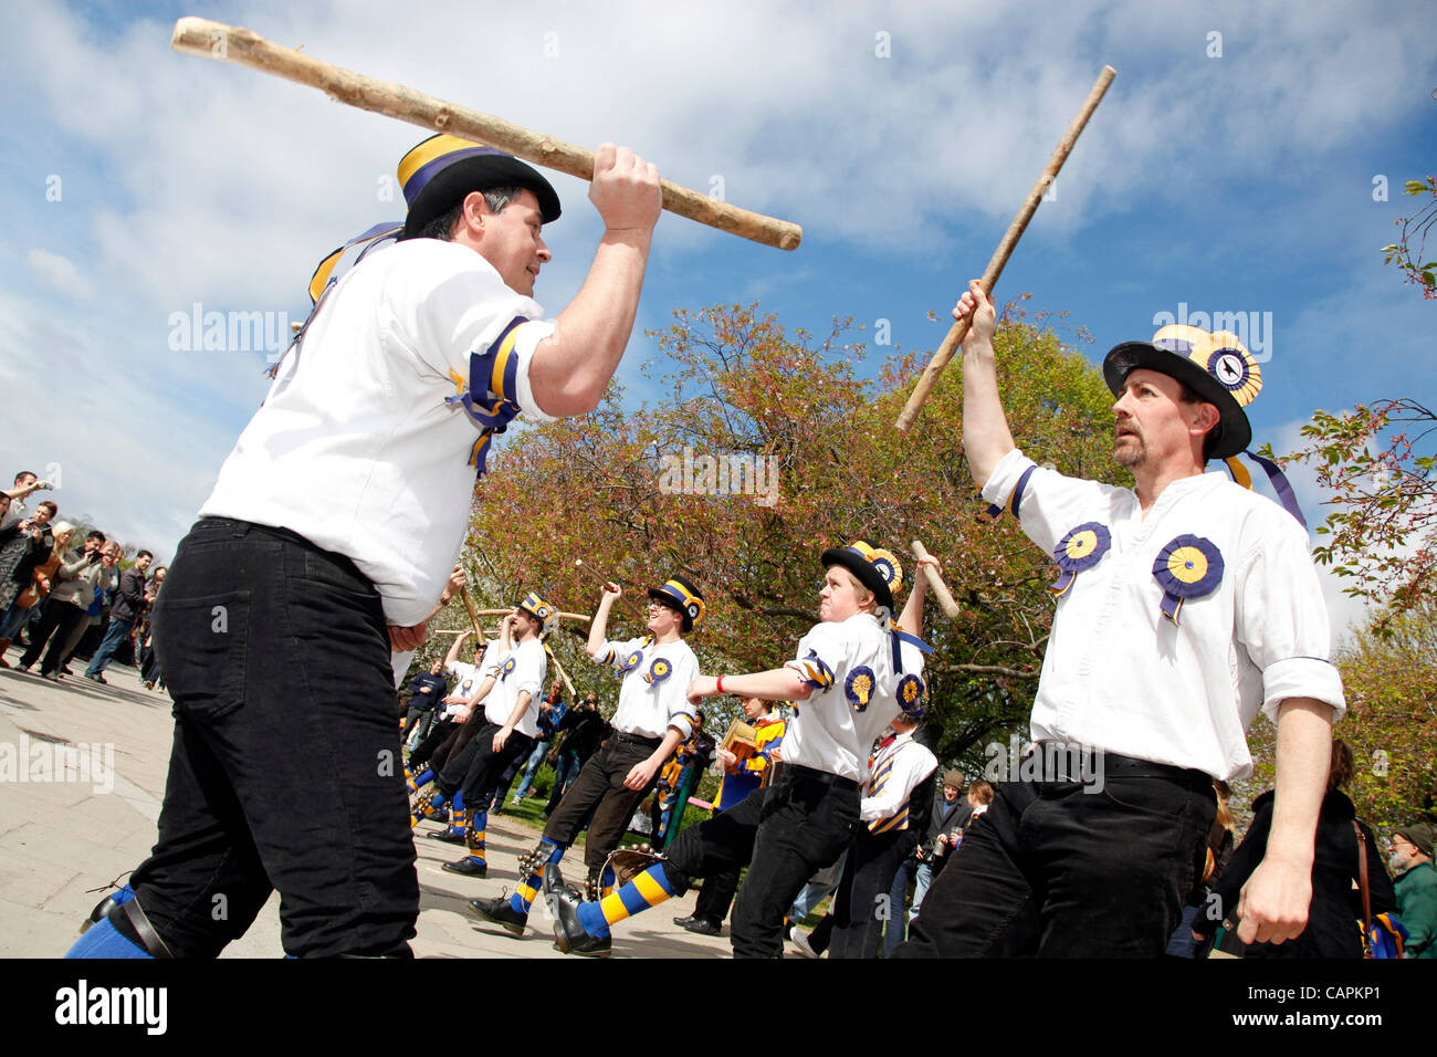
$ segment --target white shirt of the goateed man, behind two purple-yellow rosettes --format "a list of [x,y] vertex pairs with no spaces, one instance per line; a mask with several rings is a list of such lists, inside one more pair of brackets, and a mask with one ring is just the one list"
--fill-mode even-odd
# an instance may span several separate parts
[[[983,496],[1004,505],[1030,466],[1010,452]],[[1017,513],[1023,532],[1049,554],[1085,523],[1098,522],[1111,536],[1109,549],[1058,598],[1033,741],[1232,779],[1252,772],[1244,731],[1259,708],[1276,722],[1288,697],[1315,697],[1332,706],[1334,719],[1342,715],[1308,536],[1272,500],[1203,473],[1168,485],[1144,518],[1128,489],[1035,467]],[[1209,594],[1183,603],[1174,624],[1161,613],[1164,587],[1152,567],[1181,535],[1216,548],[1223,572]]]

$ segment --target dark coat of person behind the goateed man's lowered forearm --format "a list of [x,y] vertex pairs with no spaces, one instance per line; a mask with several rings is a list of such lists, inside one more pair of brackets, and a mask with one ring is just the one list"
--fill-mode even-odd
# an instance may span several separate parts
[[[1243,843],[1233,851],[1227,869],[1213,884],[1213,893],[1220,900],[1219,906],[1227,916],[1233,916],[1243,884],[1267,851],[1272,802],[1270,790],[1253,801],[1253,824]],[[1308,928],[1286,943],[1249,943],[1243,949],[1246,958],[1362,956],[1362,936],[1358,930],[1362,896],[1354,886],[1358,877],[1357,831],[1352,828],[1355,818],[1357,808],[1344,794],[1329,792],[1323,797],[1312,859],[1312,906],[1308,907]],[[1397,909],[1397,894],[1392,892],[1392,879],[1387,874],[1372,830],[1365,823],[1359,825],[1367,844],[1367,879],[1375,918]],[[1193,929],[1201,935],[1211,935],[1219,925],[1219,920],[1200,913],[1193,922]]]

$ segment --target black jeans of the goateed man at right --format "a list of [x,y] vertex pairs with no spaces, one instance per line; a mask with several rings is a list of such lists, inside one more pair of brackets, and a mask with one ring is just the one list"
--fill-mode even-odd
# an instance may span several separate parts
[[895,958],[1158,958],[1203,867],[1211,782],[1004,782]]

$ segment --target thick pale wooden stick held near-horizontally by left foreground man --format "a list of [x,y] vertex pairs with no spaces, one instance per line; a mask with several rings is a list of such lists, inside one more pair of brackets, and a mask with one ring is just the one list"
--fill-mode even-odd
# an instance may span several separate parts
[[[280,47],[243,26],[226,26],[223,22],[208,19],[180,19],[170,37],[170,46],[185,55],[233,62],[319,88],[349,106],[408,121],[411,125],[435,132],[474,139],[579,180],[593,178],[593,151],[404,85],[346,70],[293,47]],[[803,229],[787,220],[750,213],[688,187],[680,187],[671,180],[660,180],[660,184],[664,188],[664,209],[700,224],[782,250],[798,249],[803,239]]]

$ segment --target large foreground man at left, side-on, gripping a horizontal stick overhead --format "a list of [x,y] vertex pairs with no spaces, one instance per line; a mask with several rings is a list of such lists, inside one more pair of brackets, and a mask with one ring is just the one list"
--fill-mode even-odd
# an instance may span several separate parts
[[[175,700],[160,840],[134,899],[75,956],[213,958],[272,889],[290,955],[411,953],[391,651],[424,641],[493,434],[520,411],[545,421],[601,400],[661,193],[652,164],[599,147],[604,236],[578,296],[543,322],[547,180],[437,135],[399,183],[398,244],[318,295],[180,544],[154,618]],[[305,802],[326,805],[323,824],[295,811]]]

